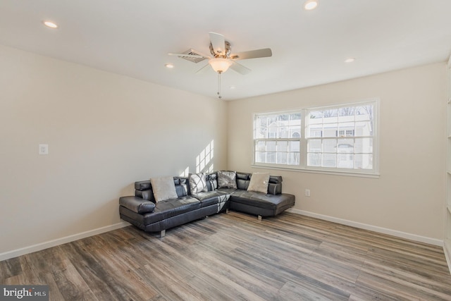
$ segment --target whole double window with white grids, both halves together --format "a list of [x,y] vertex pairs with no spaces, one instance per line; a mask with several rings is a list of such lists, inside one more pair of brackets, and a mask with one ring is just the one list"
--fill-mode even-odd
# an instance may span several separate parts
[[373,100],[288,113],[256,114],[254,164],[377,173],[377,108],[378,101]]

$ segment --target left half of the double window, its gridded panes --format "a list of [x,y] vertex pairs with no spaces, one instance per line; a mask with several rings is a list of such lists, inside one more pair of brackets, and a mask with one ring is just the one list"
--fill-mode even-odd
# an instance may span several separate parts
[[255,115],[254,163],[299,166],[300,140],[300,112]]

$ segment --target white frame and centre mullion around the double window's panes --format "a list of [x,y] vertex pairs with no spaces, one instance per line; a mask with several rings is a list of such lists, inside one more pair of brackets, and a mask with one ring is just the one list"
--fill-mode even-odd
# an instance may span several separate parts
[[[333,109],[340,109],[343,107],[357,107],[357,106],[365,106],[368,104],[373,105],[373,133],[371,135],[372,138],[372,168],[343,168],[343,167],[324,167],[324,166],[308,166],[307,164],[307,154],[308,149],[307,145],[309,140],[312,139],[319,139],[321,141],[325,141],[327,139],[339,139],[340,137],[336,137],[337,135],[333,135],[335,137],[332,137],[332,135],[329,135],[330,137],[323,137],[323,130],[321,130],[321,135],[319,135],[320,132],[316,133],[315,137],[308,137],[307,130],[309,130],[309,113],[312,111],[324,111],[324,110],[333,110]],[[379,176],[379,112],[380,112],[380,101],[379,99],[369,99],[363,102],[352,102],[347,104],[335,104],[332,106],[317,106],[317,107],[311,107],[311,108],[304,108],[304,109],[297,109],[292,111],[276,111],[276,112],[268,112],[268,113],[254,113],[254,118],[252,122],[252,166],[256,168],[274,168],[274,169],[286,169],[286,170],[292,170],[292,171],[303,171],[303,172],[314,172],[314,173],[329,173],[329,174],[338,174],[338,175],[345,175],[345,176],[369,176],[369,177],[378,177]],[[256,161],[256,138],[254,136],[254,130],[255,130],[255,121],[257,116],[270,116],[270,115],[278,115],[278,114],[284,114],[284,113],[301,113],[301,137],[299,137],[299,165],[285,165],[285,164],[268,164],[268,163],[259,163]],[[338,128],[337,128],[338,130]],[[338,133],[338,131],[337,131]],[[357,134],[357,132],[354,130],[354,134]],[[338,135],[339,136],[339,135]],[[365,135],[362,136],[348,136],[347,131],[345,130],[345,136],[342,137],[343,139],[350,138],[351,140],[355,139],[362,139],[362,138],[368,138],[369,136]],[[322,142],[321,142],[322,144]],[[338,145],[337,145],[338,146]],[[320,151],[321,154],[323,153]],[[352,158],[352,156],[355,156],[356,152],[354,152],[354,149],[352,152],[338,152],[336,154],[337,159],[339,156],[347,156],[348,158]],[[359,154],[359,153],[357,153]]]

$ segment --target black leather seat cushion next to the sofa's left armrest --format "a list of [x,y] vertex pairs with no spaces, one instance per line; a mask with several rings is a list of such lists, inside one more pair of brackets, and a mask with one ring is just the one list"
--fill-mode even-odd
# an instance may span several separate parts
[[179,197],[178,199],[166,199],[155,204],[151,213],[144,214],[143,223],[148,225],[169,217],[184,214],[200,208],[199,199],[194,197]]

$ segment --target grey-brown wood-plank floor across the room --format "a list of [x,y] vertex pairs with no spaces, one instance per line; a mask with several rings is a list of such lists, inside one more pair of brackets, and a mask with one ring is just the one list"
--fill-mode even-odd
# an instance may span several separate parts
[[129,226],[0,262],[50,300],[451,300],[441,247],[285,212]]

